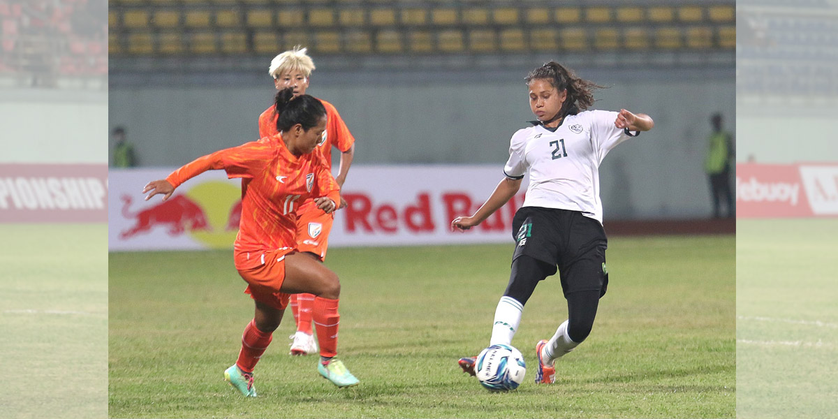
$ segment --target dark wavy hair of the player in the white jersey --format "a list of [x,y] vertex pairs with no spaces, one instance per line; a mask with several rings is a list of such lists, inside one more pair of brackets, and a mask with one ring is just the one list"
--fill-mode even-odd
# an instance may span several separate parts
[[545,63],[545,65],[530,71],[525,80],[529,85],[530,81],[535,79],[550,80],[550,84],[557,91],[567,89],[567,99],[561,108],[561,116],[576,115],[579,111],[586,110],[596,101],[593,98],[594,89],[605,87],[577,77],[573,74],[573,70],[556,63],[556,61]]

